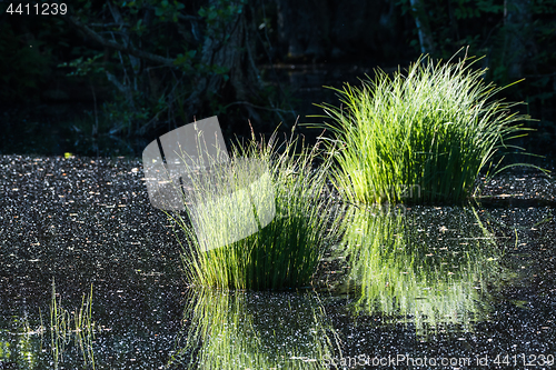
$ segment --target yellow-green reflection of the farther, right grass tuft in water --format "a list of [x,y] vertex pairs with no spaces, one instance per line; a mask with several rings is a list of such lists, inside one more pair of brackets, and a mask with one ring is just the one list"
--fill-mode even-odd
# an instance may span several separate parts
[[407,216],[354,208],[345,226],[357,313],[414,322],[417,334],[449,324],[473,330],[488,317],[500,252],[473,208]]

